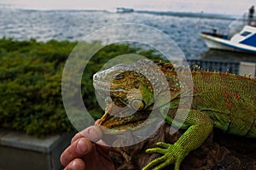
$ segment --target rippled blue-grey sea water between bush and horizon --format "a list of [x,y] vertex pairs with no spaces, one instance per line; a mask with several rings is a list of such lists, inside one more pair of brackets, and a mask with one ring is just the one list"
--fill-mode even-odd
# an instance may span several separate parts
[[[15,40],[34,38],[38,41],[68,40],[80,41],[91,32],[104,26],[122,23],[137,23],[152,26],[166,33],[183,51],[188,59],[241,59],[240,54],[208,51],[206,44],[198,34],[201,28],[228,28],[233,22],[230,18],[201,17],[188,13],[155,13],[138,11],[117,14],[106,10],[29,10],[18,8],[0,8],[0,37],[13,37]],[[122,32],[119,32],[122,34]],[[125,35],[129,38],[129,35]],[[154,39],[155,35],[150,35]],[[212,54],[213,53],[213,54]],[[255,57],[243,54],[244,60]]]

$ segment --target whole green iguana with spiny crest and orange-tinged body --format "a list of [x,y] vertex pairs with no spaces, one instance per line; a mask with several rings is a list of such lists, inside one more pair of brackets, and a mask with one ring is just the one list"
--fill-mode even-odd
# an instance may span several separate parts
[[[161,169],[172,163],[178,170],[183,159],[191,150],[201,146],[212,133],[213,127],[225,133],[256,138],[256,78],[192,68],[190,73],[193,82],[189,84],[191,82],[179,80],[177,76],[179,72],[187,74],[184,70],[189,68],[154,61],[166,78],[163,80],[155,69],[151,69],[151,62],[145,59],[132,65],[115,65],[106,71],[97,72],[93,77],[94,87],[100,94],[110,95],[115,105],[128,106],[137,111],[131,116],[110,116],[107,106],[99,122],[103,127],[118,131],[136,129],[148,118],[143,111],[156,110],[161,116],[166,106],[168,114],[162,114],[166,122],[179,123],[179,119],[173,120],[175,114],[170,114],[173,112],[186,116],[183,117],[182,127],[187,130],[176,143],[159,142],[157,145],[160,148],[146,150],[163,156],[150,161],[143,170],[153,167]],[[142,74],[141,68],[147,71]],[[182,90],[184,86],[190,88]],[[163,94],[170,94],[171,99],[161,98]],[[189,97],[193,100],[188,108],[186,101]],[[153,106],[156,102],[158,105]]]

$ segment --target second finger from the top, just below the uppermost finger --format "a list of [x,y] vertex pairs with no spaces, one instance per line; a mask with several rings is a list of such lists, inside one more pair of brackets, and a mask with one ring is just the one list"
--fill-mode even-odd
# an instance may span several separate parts
[[76,140],[61,154],[61,164],[67,166],[73,159],[84,157],[92,150],[92,147],[92,143],[88,139],[81,138]]

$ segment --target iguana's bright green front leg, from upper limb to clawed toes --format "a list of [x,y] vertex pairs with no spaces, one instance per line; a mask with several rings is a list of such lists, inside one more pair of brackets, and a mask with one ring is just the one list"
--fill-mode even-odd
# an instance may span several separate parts
[[[178,114],[185,113],[188,110],[178,110]],[[171,122],[170,122],[171,123]],[[195,150],[207,139],[212,132],[213,122],[211,118],[201,111],[191,110],[185,122],[188,127],[185,133],[177,139],[174,144],[157,143],[160,148],[146,150],[147,153],[159,153],[163,156],[150,161],[143,170],[154,167],[154,170],[161,169],[172,163],[175,163],[175,170],[178,170],[183,159],[188,156],[191,150]]]

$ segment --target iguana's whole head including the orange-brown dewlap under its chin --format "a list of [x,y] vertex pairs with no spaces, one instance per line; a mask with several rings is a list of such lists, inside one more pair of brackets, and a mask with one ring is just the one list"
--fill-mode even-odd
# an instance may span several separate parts
[[[156,96],[170,92],[165,78],[158,65],[145,59],[97,72],[93,77],[96,92],[105,98],[110,97],[113,102],[108,104],[99,124],[116,130],[137,127],[148,118]],[[163,102],[168,103],[168,100]],[[129,115],[132,111],[134,114]],[[127,114],[129,116],[125,116]]]

